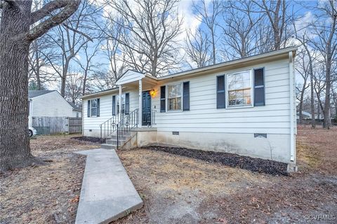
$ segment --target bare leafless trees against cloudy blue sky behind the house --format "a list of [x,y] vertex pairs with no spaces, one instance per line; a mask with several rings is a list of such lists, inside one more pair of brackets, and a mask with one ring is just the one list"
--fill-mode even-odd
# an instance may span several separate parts
[[315,117],[337,115],[336,0],[192,1],[194,27],[186,26],[191,18],[180,6],[178,0],[82,0],[30,45],[29,87],[58,88],[77,103],[83,94],[114,87],[127,69],[164,76],[298,45],[299,122],[302,111],[312,113],[312,127]]

